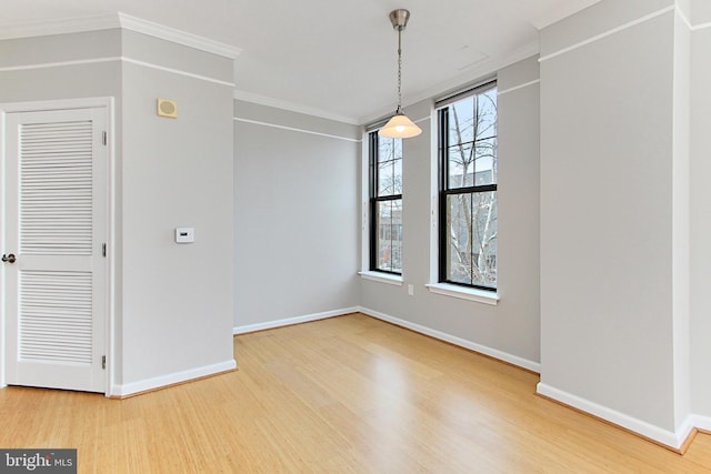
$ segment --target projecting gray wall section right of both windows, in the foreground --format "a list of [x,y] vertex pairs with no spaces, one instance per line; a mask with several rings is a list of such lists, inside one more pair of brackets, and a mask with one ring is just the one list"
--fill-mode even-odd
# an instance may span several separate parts
[[621,3],[541,33],[541,382],[674,432],[689,397],[687,72],[674,11],[585,42],[673,2]]

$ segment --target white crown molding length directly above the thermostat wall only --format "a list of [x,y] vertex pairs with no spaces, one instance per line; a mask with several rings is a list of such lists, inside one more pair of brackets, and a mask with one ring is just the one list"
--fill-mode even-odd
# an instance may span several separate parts
[[152,21],[131,17],[121,12],[119,12],[118,16],[121,28],[136,31],[137,33],[148,34],[153,38],[194,48],[200,51],[210,52],[229,59],[234,59],[242,52],[241,48],[214,41],[206,37],[199,37],[197,34],[188,33],[163,24],[153,23]]

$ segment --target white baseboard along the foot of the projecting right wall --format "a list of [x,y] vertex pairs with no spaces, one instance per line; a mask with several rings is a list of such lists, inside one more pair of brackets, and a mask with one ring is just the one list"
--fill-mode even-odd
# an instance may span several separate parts
[[582,399],[578,395],[563,392],[562,390],[558,390],[543,382],[538,383],[538,385],[535,386],[535,391],[540,395],[544,395],[568,406],[582,410],[585,413],[590,413],[594,416],[598,416],[599,418],[613,423],[618,426],[622,426],[623,428],[641,434],[642,436],[645,436],[674,450],[679,450],[693,431],[693,416],[687,417],[681,426],[677,428],[677,432],[672,432],[663,430],[642,420],[638,420],[624,413],[618,412],[617,410],[612,410],[589,400]]

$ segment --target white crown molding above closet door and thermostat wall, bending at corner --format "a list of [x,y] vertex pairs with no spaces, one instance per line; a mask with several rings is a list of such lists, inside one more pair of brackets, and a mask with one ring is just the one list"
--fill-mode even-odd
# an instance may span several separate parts
[[152,21],[131,17],[121,12],[94,17],[0,24],[0,40],[80,33],[86,31],[111,30],[114,28],[123,28],[126,30],[148,34],[153,38],[171,41],[173,43],[194,48],[229,59],[237,58],[242,51],[240,48],[230,44],[213,41],[209,38],[199,37],[197,34],[180,31],[163,24],[153,23]]

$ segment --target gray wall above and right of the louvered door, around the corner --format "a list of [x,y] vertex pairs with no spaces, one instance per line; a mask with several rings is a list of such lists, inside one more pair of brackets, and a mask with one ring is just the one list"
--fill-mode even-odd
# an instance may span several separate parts
[[[67,61],[83,63],[46,67]],[[232,61],[113,29],[0,41],[0,68],[18,67],[0,102],[114,98],[114,393],[233,365]],[[179,119],[156,117],[159,97]]]

